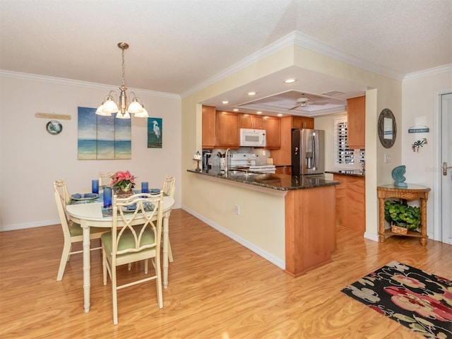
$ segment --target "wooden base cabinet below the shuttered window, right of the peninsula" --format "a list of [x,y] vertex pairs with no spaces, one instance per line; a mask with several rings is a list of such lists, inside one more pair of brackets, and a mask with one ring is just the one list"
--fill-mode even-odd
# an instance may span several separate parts
[[366,231],[366,187],[364,177],[334,174],[336,186],[336,224]]

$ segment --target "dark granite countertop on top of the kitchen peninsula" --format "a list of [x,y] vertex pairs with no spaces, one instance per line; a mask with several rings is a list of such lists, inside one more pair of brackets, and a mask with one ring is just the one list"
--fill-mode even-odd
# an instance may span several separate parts
[[[292,176],[290,174],[273,174],[263,172],[241,172],[228,170],[227,174],[220,173],[220,167],[212,169],[203,169],[197,172],[195,169],[187,169],[187,172],[215,177],[217,179],[229,180],[232,182],[241,182],[259,186],[266,189],[275,189],[278,191],[290,191],[292,189],[312,189],[314,187],[338,185],[340,182],[326,180],[323,175],[320,176]],[[248,174],[246,174],[248,173]]]

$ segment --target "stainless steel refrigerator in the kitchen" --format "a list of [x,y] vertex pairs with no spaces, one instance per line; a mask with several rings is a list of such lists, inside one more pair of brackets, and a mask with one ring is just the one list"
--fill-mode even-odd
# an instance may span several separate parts
[[325,131],[295,129],[292,131],[292,175],[325,172]]

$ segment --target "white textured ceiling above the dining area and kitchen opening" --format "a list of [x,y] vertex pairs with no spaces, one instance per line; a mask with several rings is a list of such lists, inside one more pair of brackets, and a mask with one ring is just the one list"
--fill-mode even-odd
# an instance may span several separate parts
[[[190,93],[291,32],[403,78],[452,63],[452,0],[0,1],[0,69]],[[320,93],[320,92],[318,92]]]

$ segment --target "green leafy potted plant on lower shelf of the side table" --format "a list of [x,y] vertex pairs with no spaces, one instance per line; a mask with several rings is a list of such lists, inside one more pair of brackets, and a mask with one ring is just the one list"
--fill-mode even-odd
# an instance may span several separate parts
[[391,223],[394,233],[407,234],[408,230],[417,230],[421,225],[421,209],[408,206],[404,201],[385,201],[384,218]]

